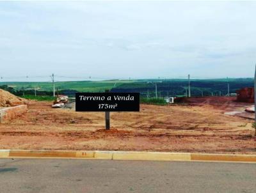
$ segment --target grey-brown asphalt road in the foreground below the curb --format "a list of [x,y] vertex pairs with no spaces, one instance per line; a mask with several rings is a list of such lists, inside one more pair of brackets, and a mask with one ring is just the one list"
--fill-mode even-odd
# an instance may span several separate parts
[[0,159],[0,192],[256,192],[256,164]]

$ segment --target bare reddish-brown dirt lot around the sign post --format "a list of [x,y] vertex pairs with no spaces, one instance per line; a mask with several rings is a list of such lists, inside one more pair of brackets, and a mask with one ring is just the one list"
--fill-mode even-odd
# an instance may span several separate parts
[[0,149],[256,153],[253,120],[223,114],[236,106],[231,99],[223,100],[141,104],[140,112],[111,112],[108,131],[104,112],[30,102],[28,113],[0,124]]

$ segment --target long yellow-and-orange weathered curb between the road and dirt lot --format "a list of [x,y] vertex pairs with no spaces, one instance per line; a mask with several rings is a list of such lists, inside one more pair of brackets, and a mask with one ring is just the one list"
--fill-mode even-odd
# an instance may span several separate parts
[[0,150],[0,158],[83,158],[103,160],[252,162],[256,155],[145,151]]

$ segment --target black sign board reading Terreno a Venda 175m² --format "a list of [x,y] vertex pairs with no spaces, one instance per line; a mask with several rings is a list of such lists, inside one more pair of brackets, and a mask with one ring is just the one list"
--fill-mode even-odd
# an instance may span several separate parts
[[140,111],[140,93],[76,93],[76,111]]

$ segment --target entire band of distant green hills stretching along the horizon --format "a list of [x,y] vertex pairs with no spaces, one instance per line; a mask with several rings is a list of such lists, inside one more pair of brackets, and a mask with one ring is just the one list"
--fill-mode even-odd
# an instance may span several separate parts
[[[67,81],[56,82],[55,87],[60,93],[74,95],[79,92],[104,92],[109,89],[113,92],[140,92],[142,96],[155,96],[154,83],[157,82],[158,96],[184,96],[188,88],[187,79],[138,79],[138,80],[110,80],[110,81]],[[253,87],[253,79],[192,79],[192,96],[227,95],[227,84],[230,93],[236,93],[237,89]],[[51,95],[52,82],[0,82],[0,87],[7,85],[9,91],[22,94],[22,89],[28,95],[32,95],[34,89],[42,95]],[[12,89],[13,88],[13,89]],[[7,88],[6,88],[7,89]],[[44,92],[45,91],[45,92]]]

